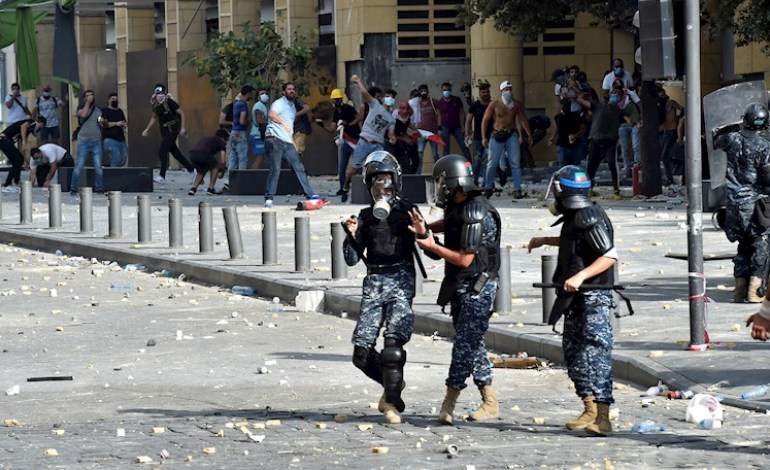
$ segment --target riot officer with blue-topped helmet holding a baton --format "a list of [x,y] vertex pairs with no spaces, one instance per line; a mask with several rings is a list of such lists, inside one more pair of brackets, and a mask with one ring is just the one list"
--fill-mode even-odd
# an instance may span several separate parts
[[[557,221],[562,224],[561,233],[532,238],[529,251],[543,245],[559,247],[553,283],[561,286],[556,306],[565,315],[564,359],[584,405],[583,413],[567,422],[567,428],[607,435],[612,432],[609,409],[613,403],[610,287],[617,252],[612,223],[604,209],[589,198],[590,189],[591,180],[580,167],[565,166],[554,174],[549,192],[555,201],[550,209],[561,216]],[[586,287],[581,288],[583,285]]]

